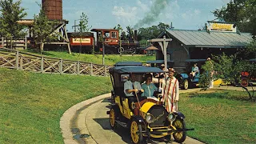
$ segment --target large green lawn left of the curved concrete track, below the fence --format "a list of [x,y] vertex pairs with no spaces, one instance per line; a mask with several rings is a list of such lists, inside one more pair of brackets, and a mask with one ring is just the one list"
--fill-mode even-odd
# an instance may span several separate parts
[[62,114],[110,90],[110,78],[0,68],[0,143],[63,143]]

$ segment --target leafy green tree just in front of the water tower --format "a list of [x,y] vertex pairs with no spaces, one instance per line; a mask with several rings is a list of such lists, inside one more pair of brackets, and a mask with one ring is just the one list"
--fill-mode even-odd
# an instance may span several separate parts
[[57,39],[59,34],[54,31],[55,22],[50,21],[42,10],[42,6],[40,7],[39,14],[34,15],[33,34],[35,44],[36,46],[39,45],[40,53],[42,54],[44,44]]

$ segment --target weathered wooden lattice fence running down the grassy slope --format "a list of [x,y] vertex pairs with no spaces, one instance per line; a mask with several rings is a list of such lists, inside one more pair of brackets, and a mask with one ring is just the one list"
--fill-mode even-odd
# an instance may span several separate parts
[[86,74],[109,76],[110,66],[50,58],[18,50],[0,48],[0,67],[46,74]]

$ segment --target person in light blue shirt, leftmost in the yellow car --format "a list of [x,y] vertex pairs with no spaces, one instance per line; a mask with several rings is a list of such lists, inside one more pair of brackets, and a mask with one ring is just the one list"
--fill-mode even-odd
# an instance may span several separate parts
[[137,100],[134,96],[138,95],[140,92],[139,90],[141,90],[142,93],[144,92],[144,90],[142,90],[141,83],[136,81],[136,75],[130,74],[130,79],[124,83],[124,93],[128,98],[129,106],[131,105],[131,102],[135,102],[135,100]]

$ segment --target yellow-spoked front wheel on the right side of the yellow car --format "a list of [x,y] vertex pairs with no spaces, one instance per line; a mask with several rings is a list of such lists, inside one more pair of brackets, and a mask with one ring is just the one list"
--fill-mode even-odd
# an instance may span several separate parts
[[181,130],[178,131],[177,133],[174,133],[174,141],[178,143],[182,143],[186,139],[186,131],[182,131],[183,129],[186,129],[186,124],[182,119],[175,119],[173,122],[173,126],[176,128],[176,130]]

